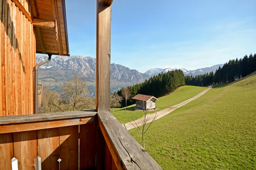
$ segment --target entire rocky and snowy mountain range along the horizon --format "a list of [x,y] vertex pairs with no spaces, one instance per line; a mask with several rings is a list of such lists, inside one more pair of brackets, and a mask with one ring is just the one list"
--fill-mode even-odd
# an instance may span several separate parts
[[[48,57],[38,55],[36,62],[40,63]],[[184,75],[198,75],[214,71],[223,65],[214,65],[208,68],[199,68],[197,70],[188,71],[184,68]],[[127,68],[119,64],[111,64],[111,83],[112,84],[136,84],[143,82],[145,79],[157,75],[161,72],[176,70],[177,68],[152,68],[144,74],[137,70]],[[73,75],[78,75],[82,79],[94,83],[96,77],[96,59],[88,56],[57,56],[51,61],[42,65],[38,70],[38,78],[42,83],[58,83],[69,80]]]

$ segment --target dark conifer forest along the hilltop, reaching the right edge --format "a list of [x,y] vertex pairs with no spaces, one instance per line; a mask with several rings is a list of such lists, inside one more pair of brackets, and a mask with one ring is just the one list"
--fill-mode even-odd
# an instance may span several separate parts
[[215,74],[213,72],[193,76],[185,76],[186,85],[209,86],[212,84],[221,84],[225,82],[233,82],[241,79],[252,72],[256,71],[256,54],[245,55],[240,59],[232,59],[226,62],[223,67],[219,67]]

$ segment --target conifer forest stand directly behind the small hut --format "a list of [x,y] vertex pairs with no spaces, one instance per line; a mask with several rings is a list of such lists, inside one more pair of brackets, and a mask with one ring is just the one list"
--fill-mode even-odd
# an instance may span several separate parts
[[[180,86],[185,85],[185,79],[183,71],[175,70],[168,71],[167,73],[159,73],[157,76],[153,76],[150,79],[146,79],[145,82],[128,86],[127,88],[131,92],[130,99],[127,100],[127,105],[134,104],[135,101],[131,99],[137,94],[147,94],[155,97],[161,97],[175,91]],[[117,91],[118,95],[122,95],[124,88]],[[125,107],[125,99],[122,100],[122,107]]]

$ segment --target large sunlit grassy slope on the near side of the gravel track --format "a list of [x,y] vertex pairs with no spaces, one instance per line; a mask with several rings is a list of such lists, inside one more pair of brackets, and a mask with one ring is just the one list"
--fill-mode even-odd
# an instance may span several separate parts
[[256,72],[156,120],[145,147],[165,170],[255,169]]

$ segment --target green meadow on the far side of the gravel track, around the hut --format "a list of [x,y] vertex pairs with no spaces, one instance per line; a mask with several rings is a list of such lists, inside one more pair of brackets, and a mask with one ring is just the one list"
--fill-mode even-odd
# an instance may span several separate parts
[[[199,94],[200,92],[204,91],[207,89],[206,87],[197,87],[197,86],[182,86],[175,90],[172,94],[163,96],[158,98],[159,101],[156,102],[157,108],[164,109],[173,105],[177,105],[187,99],[192,98],[193,96]],[[125,118],[124,111],[128,111],[130,113],[133,113],[135,119],[139,119],[140,117],[143,116],[143,111],[135,111],[134,113],[134,106],[135,105],[130,105],[128,108],[122,109],[122,108],[114,108],[113,110],[113,115],[116,117],[116,119],[119,120],[121,123],[126,123],[128,122],[127,119]],[[154,113],[152,111],[151,113]]]

